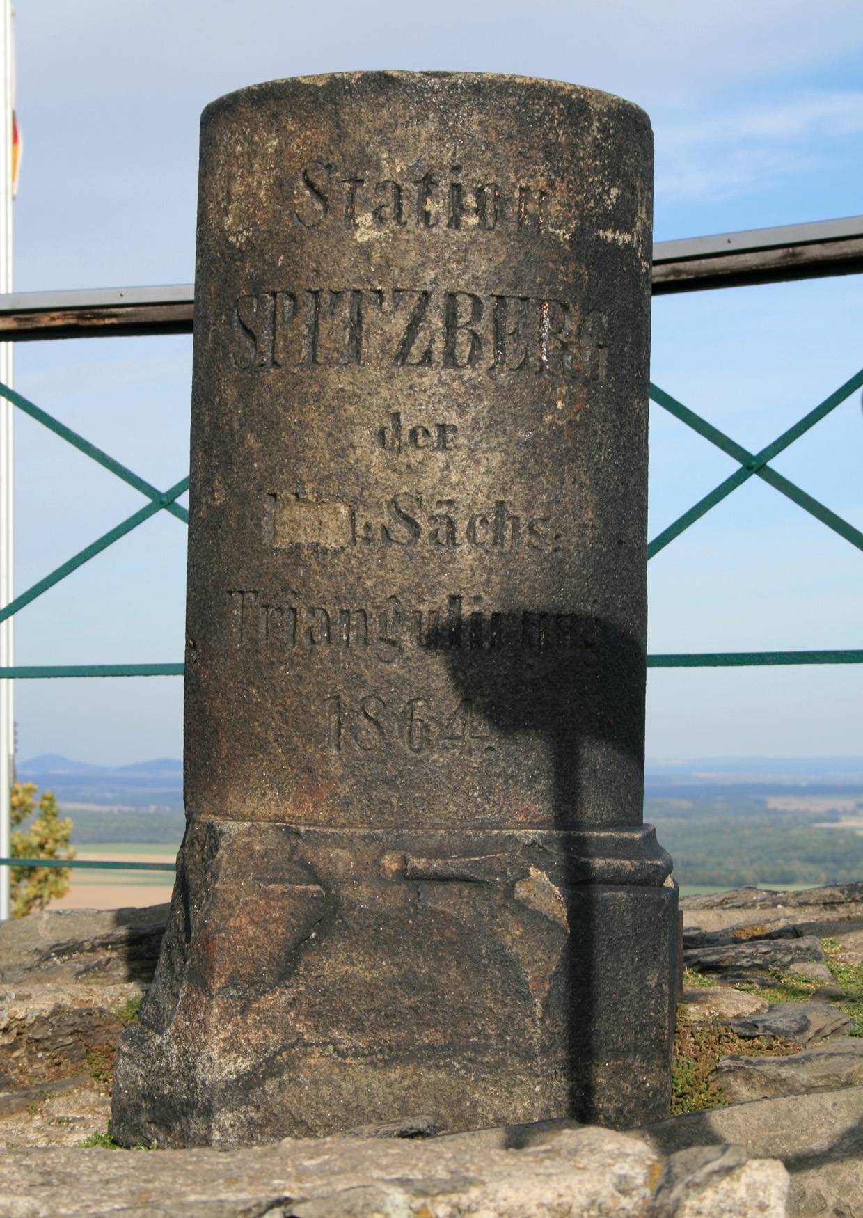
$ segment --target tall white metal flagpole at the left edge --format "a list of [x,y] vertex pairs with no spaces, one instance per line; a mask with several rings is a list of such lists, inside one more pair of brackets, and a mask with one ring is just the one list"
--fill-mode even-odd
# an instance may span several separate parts
[[[0,292],[12,291],[12,108],[15,106],[15,48],[12,43],[12,0],[0,0]],[[12,384],[12,343],[0,343],[0,381]],[[0,398],[0,605],[13,597],[13,465],[12,403]],[[0,665],[15,663],[12,619],[0,622]],[[15,777],[15,685],[0,680],[0,857],[7,859],[10,842],[10,797]],[[0,867],[0,920],[10,916],[9,867]]]

